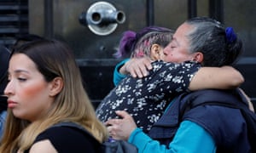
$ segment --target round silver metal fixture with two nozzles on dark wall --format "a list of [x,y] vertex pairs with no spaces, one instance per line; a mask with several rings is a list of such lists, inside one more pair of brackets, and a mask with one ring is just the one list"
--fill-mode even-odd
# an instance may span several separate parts
[[87,12],[79,16],[80,24],[88,26],[96,35],[105,36],[112,33],[125,22],[125,13],[107,2],[93,3]]

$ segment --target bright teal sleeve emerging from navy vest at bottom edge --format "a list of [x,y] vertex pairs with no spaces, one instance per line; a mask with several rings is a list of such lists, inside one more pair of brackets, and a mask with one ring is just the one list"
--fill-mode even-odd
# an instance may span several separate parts
[[181,123],[172,143],[169,144],[169,149],[166,145],[148,137],[140,128],[131,133],[128,141],[137,146],[139,153],[214,153],[216,151],[212,136],[203,127],[190,121]]

